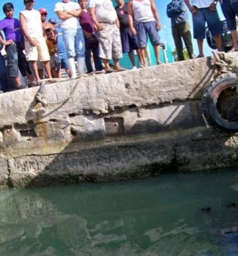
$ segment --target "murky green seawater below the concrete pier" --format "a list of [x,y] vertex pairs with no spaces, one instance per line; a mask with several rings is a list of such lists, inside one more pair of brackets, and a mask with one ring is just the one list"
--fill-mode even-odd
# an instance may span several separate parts
[[237,256],[230,203],[238,205],[234,169],[3,191],[0,255]]

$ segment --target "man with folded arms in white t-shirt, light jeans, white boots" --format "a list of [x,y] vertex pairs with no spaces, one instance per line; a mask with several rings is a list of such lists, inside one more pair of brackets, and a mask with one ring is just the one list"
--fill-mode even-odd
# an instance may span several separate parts
[[56,3],[54,11],[60,19],[71,78],[76,78],[75,57],[78,63],[78,73],[84,74],[85,72],[85,41],[79,21],[82,9],[78,3],[62,0]]

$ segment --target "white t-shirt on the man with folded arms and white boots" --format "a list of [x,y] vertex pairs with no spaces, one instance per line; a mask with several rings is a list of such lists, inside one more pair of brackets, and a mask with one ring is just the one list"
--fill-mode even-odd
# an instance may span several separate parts
[[[54,7],[54,12],[56,11],[76,11],[77,9],[81,9],[80,5],[75,2],[60,2],[56,3]],[[60,19],[61,28],[62,29],[81,29],[80,21],[76,17],[71,17],[69,19]]]

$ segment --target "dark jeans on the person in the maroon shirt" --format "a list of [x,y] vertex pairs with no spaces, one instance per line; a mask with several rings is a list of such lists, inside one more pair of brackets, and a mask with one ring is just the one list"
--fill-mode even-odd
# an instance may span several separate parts
[[99,47],[89,47],[87,45],[85,51],[85,62],[87,66],[88,73],[93,72],[93,67],[91,66],[91,51],[93,53],[93,60],[95,64],[95,68],[97,71],[103,70],[103,66],[101,64],[101,59],[99,57]]

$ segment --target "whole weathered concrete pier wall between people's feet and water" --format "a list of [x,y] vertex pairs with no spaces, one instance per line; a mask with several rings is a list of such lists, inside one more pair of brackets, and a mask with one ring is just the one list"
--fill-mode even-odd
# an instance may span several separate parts
[[48,84],[44,108],[38,88],[0,95],[0,185],[237,166],[237,136],[205,128],[200,111],[215,74],[204,58]]

